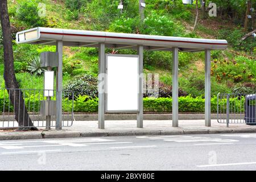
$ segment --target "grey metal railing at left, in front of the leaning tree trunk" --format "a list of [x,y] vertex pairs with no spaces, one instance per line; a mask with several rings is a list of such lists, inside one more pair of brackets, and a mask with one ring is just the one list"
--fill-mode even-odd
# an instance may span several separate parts
[[[56,101],[56,90],[41,89],[0,89],[0,129],[46,127],[46,115],[42,114],[46,107],[44,101],[49,101],[49,97],[44,97],[45,92],[51,92],[51,101]],[[63,102],[63,127],[73,125],[74,96],[72,92],[62,91]],[[23,98],[23,100],[21,99]],[[24,101],[24,102],[23,102]],[[51,108],[56,109],[53,106]],[[51,113],[55,111],[51,110]],[[26,114],[28,113],[28,115]],[[55,127],[56,115],[51,115],[50,127]]]

